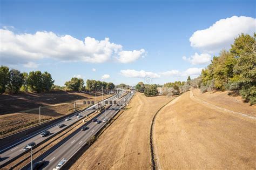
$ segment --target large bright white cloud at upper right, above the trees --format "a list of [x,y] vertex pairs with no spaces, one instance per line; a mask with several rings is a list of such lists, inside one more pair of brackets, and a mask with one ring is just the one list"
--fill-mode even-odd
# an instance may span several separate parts
[[255,28],[255,18],[233,16],[220,19],[209,28],[194,32],[190,37],[190,44],[208,53],[219,52],[223,48],[229,49],[239,34],[253,35]]

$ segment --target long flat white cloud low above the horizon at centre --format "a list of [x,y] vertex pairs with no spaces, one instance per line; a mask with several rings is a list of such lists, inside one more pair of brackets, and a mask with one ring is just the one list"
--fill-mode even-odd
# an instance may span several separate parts
[[136,71],[136,70],[121,70],[120,73],[125,77],[134,77],[134,78],[159,78],[160,75],[153,72],[146,72],[144,70]]

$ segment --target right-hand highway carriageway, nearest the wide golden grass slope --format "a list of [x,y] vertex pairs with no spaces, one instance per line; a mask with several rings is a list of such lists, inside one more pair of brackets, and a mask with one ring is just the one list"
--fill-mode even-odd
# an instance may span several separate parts
[[[128,102],[130,101],[132,96],[133,94],[127,94],[127,96],[125,96],[124,98],[117,99],[117,100],[126,99],[126,101]],[[122,106],[112,105],[109,109],[107,109],[106,110],[107,119],[112,118],[113,115],[118,112],[113,109],[116,109],[116,108],[120,109],[123,106],[124,105]],[[97,119],[103,121],[103,119],[105,119],[105,112],[100,114],[97,117]],[[85,125],[89,127],[89,129],[87,129],[86,131],[78,131],[75,135],[73,135],[73,137],[65,141],[64,144],[59,146],[55,151],[53,151],[43,159],[46,162],[48,162],[48,165],[46,165],[46,167],[44,167],[43,169],[56,168],[56,166],[61,160],[63,159],[69,160],[72,157],[72,155],[75,154],[80,149],[80,147],[82,147],[85,144],[85,142],[87,142],[100,128],[102,128],[102,126],[105,126],[105,123],[102,122],[100,124],[96,124],[92,121],[89,121]]]

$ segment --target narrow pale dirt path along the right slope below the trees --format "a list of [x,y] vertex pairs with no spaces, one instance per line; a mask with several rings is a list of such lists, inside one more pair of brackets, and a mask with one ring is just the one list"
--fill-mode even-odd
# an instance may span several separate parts
[[253,116],[251,116],[251,115],[247,115],[247,114],[245,114],[245,113],[240,113],[240,112],[234,112],[234,111],[228,110],[228,109],[226,109],[226,108],[213,105],[213,104],[208,103],[208,102],[206,102],[206,101],[204,101],[204,100],[195,98],[195,97],[194,97],[194,94],[193,94],[193,91],[190,91],[190,98],[191,98],[192,100],[199,101],[199,103],[203,103],[203,104],[207,105],[208,107],[211,107],[211,108],[214,108],[214,109],[218,109],[218,110],[225,111],[225,112],[228,112],[228,113],[238,114],[238,115],[241,115],[241,116],[243,116],[243,117],[250,118],[250,119],[256,119],[256,117],[253,117]]

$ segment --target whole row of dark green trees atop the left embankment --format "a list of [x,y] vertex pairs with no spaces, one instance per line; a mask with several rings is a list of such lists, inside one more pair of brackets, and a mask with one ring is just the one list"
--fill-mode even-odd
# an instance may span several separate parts
[[0,93],[16,94],[23,92],[48,92],[53,86],[51,74],[48,72],[31,71],[21,72],[9,69],[7,66],[0,67]]

